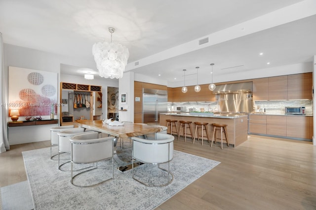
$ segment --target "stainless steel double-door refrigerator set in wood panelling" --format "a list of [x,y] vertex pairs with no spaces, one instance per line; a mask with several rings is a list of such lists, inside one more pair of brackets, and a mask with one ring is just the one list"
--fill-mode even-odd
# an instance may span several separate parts
[[159,114],[167,112],[167,103],[167,91],[143,88],[143,123],[159,125]]

